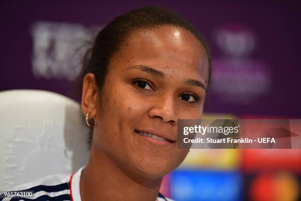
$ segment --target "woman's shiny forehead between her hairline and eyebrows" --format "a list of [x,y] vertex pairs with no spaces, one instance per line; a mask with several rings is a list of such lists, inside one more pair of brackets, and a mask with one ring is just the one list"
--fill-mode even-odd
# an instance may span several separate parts
[[189,31],[174,26],[136,30],[115,56],[121,66],[148,65],[174,75],[181,73],[208,80],[208,58],[204,46]]

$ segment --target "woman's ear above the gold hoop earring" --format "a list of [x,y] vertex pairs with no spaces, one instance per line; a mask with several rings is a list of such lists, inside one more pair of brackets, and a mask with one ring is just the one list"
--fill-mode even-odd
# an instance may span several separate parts
[[93,73],[87,73],[84,77],[81,106],[85,116],[90,112],[89,119],[96,116],[97,86]]

